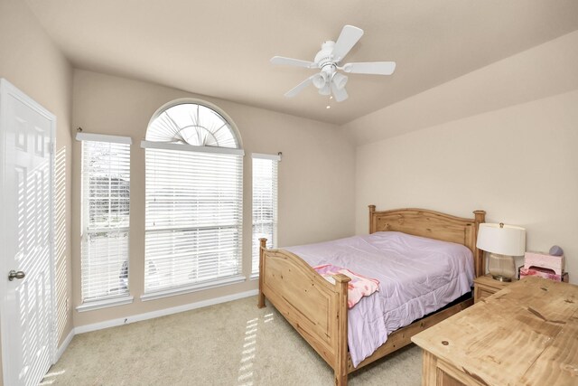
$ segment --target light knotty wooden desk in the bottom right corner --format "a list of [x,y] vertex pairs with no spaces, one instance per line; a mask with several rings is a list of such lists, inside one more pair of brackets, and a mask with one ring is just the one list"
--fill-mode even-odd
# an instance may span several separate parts
[[578,384],[578,286],[524,278],[433,325],[422,384]]

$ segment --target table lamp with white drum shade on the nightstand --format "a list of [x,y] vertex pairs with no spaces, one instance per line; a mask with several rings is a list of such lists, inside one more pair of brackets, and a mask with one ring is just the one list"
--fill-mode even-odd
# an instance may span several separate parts
[[499,281],[516,278],[514,256],[526,252],[526,230],[514,225],[481,223],[476,247],[489,252],[488,272]]

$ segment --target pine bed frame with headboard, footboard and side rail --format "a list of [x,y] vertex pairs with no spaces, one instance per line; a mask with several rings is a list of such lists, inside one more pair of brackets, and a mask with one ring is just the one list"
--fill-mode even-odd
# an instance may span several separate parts
[[[473,219],[464,219],[424,209],[376,212],[375,205],[369,205],[369,233],[403,231],[465,245],[473,252],[475,275],[479,277],[483,275],[484,262],[482,251],[476,248],[476,237],[480,223],[485,221],[485,214],[484,211],[475,211]],[[400,328],[389,334],[385,344],[354,368],[347,344],[347,287],[350,278],[335,275],[335,284],[331,284],[293,253],[266,249],[266,239],[260,239],[260,243],[257,306],[266,306],[267,298],[331,366],[336,385],[347,385],[350,372],[410,344],[413,335],[473,304],[473,298],[469,298]]]

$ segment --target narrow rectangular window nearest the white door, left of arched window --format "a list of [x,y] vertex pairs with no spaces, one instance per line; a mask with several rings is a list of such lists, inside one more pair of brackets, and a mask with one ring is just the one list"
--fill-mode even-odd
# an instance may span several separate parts
[[131,139],[86,133],[77,139],[82,141],[82,303],[118,303],[118,297],[129,295]]

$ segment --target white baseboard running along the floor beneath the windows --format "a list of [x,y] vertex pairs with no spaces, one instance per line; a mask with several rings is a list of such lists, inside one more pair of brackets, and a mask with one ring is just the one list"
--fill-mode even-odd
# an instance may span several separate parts
[[[79,325],[74,328],[74,334],[84,334],[91,331],[102,330],[108,327],[116,327],[118,325],[127,325],[129,323],[140,322],[142,320],[154,319],[155,317],[177,314],[184,311],[191,311],[196,308],[204,306],[218,305],[219,303],[230,302],[231,300],[241,299],[243,297],[254,297],[259,293],[258,289],[251,289],[250,291],[240,292],[238,294],[228,295],[226,297],[215,297],[214,299],[203,300],[197,303],[190,303],[188,305],[176,306],[171,308],[164,308],[153,312],[147,312],[144,314],[131,315],[126,317],[120,317],[117,319],[107,320],[105,322],[95,323],[92,325]],[[70,339],[72,339],[70,337]],[[68,340],[68,337],[67,337]],[[62,344],[64,345],[64,344]]]

